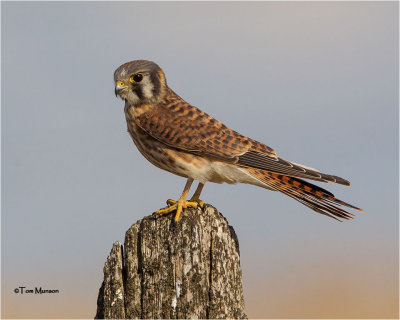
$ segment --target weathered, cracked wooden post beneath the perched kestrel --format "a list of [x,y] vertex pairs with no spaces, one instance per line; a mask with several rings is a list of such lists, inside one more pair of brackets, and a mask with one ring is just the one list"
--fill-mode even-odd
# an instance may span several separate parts
[[210,205],[139,220],[107,258],[95,318],[246,318],[235,231]]

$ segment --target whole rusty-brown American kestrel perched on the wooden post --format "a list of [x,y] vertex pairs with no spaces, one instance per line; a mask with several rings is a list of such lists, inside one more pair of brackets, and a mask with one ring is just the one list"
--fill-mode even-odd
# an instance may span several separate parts
[[[156,63],[127,62],[115,71],[114,81],[115,94],[125,100],[128,132],[139,151],[155,166],[187,178],[179,200],[168,200],[157,214],[176,211],[178,221],[183,208],[203,205],[199,197],[206,182],[241,182],[280,191],[336,220],[354,216],[339,206],[361,211],[303,179],[346,186],[349,181],[284,160],[267,145],[188,104],[168,87]],[[187,201],[194,180],[199,185]]]

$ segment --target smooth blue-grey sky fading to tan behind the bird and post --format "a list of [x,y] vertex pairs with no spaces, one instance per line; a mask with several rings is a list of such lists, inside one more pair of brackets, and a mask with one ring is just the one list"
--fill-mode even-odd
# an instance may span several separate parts
[[[126,132],[113,72],[147,59],[191,104],[365,209],[207,184],[251,318],[398,316],[398,3],[2,2],[2,317],[93,318],[112,244],[179,197]],[[59,294],[17,295],[42,286]]]

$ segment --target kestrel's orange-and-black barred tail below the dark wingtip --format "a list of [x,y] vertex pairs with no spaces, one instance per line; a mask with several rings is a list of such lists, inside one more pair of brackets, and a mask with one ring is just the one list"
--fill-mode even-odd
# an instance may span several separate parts
[[268,189],[280,191],[310,209],[338,221],[354,217],[353,213],[347,212],[338,206],[346,206],[362,211],[360,208],[335,198],[329,191],[302,179],[291,178],[261,169],[243,168],[242,170],[264,184]]

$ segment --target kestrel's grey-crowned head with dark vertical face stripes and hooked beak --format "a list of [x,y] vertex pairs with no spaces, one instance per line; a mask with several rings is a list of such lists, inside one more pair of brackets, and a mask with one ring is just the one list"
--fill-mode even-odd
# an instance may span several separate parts
[[114,72],[115,95],[137,106],[160,101],[166,93],[164,72],[152,61],[134,60]]

